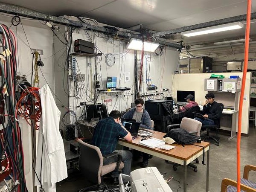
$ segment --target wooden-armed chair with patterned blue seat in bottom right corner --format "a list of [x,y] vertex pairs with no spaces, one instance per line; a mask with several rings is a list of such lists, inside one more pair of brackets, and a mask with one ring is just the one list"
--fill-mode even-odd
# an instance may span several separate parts
[[[241,178],[241,190],[247,192],[256,192],[256,183],[249,179],[249,172],[256,171],[256,166],[244,166],[244,176]],[[221,192],[236,192],[237,182],[231,179],[223,179],[221,182]]]

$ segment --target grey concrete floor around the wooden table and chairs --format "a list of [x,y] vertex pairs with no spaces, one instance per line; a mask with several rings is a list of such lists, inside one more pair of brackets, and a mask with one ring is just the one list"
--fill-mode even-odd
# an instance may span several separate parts
[[[209,192],[220,192],[221,180],[230,178],[236,180],[236,141],[237,137],[227,140],[229,135],[220,134],[220,145],[210,145],[210,164],[209,164]],[[206,158],[206,155],[205,155]],[[199,157],[200,163],[197,164],[198,172],[187,169],[187,191],[205,192],[206,191],[206,166],[201,164],[202,156]],[[138,162],[134,162],[132,170],[140,169]],[[244,165],[256,165],[256,128],[250,124],[249,136],[241,137],[241,177],[243,176]],[[153,157],[149,160],[148,166],[155,166],[164,178],[173,177],[169,182],[173,192],[183,191],[183,167],[179,166],[177,171],[172,169],[172,163]],[[256,180],[256,173],[250,173],[249,178]],[[72,172],[66,180],[56,184],[57,192],[77,192],[78,189],[90,186],[81,177],[79,172]]]

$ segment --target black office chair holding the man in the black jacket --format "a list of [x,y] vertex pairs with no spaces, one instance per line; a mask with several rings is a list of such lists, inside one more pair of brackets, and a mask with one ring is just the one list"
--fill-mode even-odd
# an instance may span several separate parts
[[[224,105],[222,103],[218,103],[219,105],[221,105],[221,114],[222,111],[224,109]],[[205,137],[203,138],[204,140],[209,140],[212,139],[215,141],[215,145],[219,146],[220,145],[220,138],[218,137],[218,131],[221,128],[221,117],[218,119],[217,124],[214,125],[202,125],[202,130],[206,130],[207,129],[207,134],[205,135]],[[209,131],[215,131],[216,132],[216,136],[210,136],[209,135]]]

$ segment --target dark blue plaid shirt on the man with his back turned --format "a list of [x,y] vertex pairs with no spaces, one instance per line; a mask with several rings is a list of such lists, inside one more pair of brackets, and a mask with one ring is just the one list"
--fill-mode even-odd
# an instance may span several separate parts
[[101,119],[94,128],[92,144],[99,147],[102,155],[110,154],[116,149],[119,137],[128,134],[112,117]]

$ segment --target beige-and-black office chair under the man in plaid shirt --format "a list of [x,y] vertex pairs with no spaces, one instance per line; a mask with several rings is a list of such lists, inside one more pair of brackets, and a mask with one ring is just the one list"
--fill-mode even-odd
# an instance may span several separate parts
[[[122,157],[119,153],[113,152],[107,154],[104,157],[99,149],[94,145],[84,143],[82,140],[77,140],[80,147],[79,157],[79,171],[90,182],[94,184],[103,183],[103,175],[113,172],[114,170],[120,170],[124,167],[124,163],[121,162]],[[118,157],[117,162],[103,165],[103,158]]]

